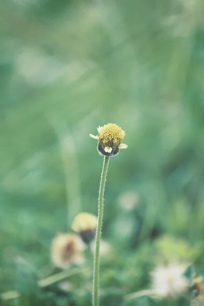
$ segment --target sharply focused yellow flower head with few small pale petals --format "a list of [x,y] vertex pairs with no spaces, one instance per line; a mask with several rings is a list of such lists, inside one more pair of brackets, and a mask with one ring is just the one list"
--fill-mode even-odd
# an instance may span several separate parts
[[125,136],[124,131],[114,123],[108,123],[104,126],[98,126],[98,135],[89,134],[92,138],[98,140],[97,150],[100,155],[117,155],[119,149],[126,149],[127,145],[122,143]]

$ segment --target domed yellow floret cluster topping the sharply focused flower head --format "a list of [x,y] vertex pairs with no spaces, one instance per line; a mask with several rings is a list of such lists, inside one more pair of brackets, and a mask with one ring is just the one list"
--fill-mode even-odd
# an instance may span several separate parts
[[113,143],[121,142],[125,136],[124,131],[118,125],[114,123],[105,124],[99,127],[99,141],[107,143],[113,141]]

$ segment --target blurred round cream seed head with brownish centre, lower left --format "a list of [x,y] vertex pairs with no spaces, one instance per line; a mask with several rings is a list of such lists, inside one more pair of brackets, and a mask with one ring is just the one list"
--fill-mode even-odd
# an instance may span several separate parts
[[75,234],[60,234],[52,242],[51,257],[54,265],[59,268],[69,268],[84,262],[86,245]]

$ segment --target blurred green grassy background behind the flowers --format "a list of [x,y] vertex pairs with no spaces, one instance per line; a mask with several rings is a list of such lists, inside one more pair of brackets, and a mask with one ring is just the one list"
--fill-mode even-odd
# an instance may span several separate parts
[[0,292],[23,297],[1,305],[91,304],[89,256],[72,290],[36,279],[60,271],[56,234],[97,214],[103,158],[89,133],[108,122],[129,147],[108,171],[101,306],[149,288],[161,262],[202,274],[203,0],[1,0],[0,39]]

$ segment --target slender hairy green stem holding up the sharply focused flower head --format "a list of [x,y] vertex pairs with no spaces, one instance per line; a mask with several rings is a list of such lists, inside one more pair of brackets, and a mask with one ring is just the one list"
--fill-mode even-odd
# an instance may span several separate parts
[[109,157],[104,157],[104,165],[101,172],[100,188],[98,197],[98,221],[96,227],[96,241],[94,250],[94,263],[93,263],[93,306],[98,306],[98,290],[99,290],[99,260],[100,260],[100,235],[101,226],[103,222],[104,211],[104,190],[106,184],[106,174],[108,170]]

